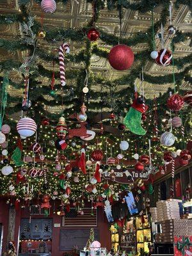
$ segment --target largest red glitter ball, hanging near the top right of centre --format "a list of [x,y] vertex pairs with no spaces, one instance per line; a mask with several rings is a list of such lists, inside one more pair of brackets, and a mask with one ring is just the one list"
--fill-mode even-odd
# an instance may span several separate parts
[[109,52],[108,60],[111,67],[116,70],[127,70],[134,61],[134,53],[127,45],[115,45]]

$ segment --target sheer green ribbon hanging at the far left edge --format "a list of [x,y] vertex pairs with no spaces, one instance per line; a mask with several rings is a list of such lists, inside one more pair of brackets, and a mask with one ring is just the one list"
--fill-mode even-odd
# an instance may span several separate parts
[[5,74],[3,77],[2,92],[1,92],[0,129],[3,125],[4,109],[6,108],[6,103],[7,103],[8,84],[9,84],[8,74]]

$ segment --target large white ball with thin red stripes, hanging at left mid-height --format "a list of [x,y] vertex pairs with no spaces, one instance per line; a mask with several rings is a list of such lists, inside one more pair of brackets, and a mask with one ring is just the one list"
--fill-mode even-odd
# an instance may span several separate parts
[[17,123],[17,132],[20,136],[30,137],[36,132],[36,123],[32,118],[24,117]]

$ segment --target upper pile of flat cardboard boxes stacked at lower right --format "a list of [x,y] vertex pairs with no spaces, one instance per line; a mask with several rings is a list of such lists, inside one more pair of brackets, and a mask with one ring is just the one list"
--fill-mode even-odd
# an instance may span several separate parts
[[180,219],[182,200],[168,199],[157,202],[157,221]]

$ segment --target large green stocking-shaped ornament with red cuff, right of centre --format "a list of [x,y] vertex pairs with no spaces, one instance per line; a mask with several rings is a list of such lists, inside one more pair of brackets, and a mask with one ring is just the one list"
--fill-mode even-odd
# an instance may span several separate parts
[[148,109],[148,106],[145,103],[139,103],[137,99],[134,99],[131,108],[127,112],[127,115],[124,118],[124,125],[132,133],[138,135],[145,135],[147,131],[141,127],[141,116]]

